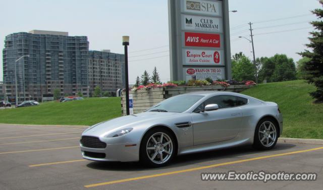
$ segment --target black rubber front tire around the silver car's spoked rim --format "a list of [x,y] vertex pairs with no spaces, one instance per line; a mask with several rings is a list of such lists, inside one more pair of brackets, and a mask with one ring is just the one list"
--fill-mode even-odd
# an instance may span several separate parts
[[[159,139],[158,139],[158,135],[160,133],[163,133],[163,142],[168,142],[167,140],[171,140],[171,143],[169,143],[167,146],[163,147],[162,149],[165,151],[169,151],[171,150],[170,147],[172,145],[172,151],[170,154],[167,154],[166,152],[164,152],[163,150],[157,150],[157,148],[155,150],[147,150],[147,147],[151,147],[153,146],[151,143],[152,143],[152,139],[151,139],[151,136],[154,136],[155,140],[159,143],[160,141],[160,136],[159,136]],[[164,135],[166,134],[166,135]],[[161,135],[161,134],[160,134]],[[149,141],[149,144],[148,144],[148,141]],[[160,144],[160,143],[159,143]],[[165,143],[164,143],[165,144]],[[161,146],[162,144],[160,144]],[[158,145],[159,146],[159,145]],[[155,146],[154,146],[155,147]],[[158,147],[160,148],[160,147]],[[153,162],[149,157],[148,155],[150,155],[151,157],[153,157],[153,155],[157,152],[157,151],[160,151],[161,152],[161,155],[163,155],[163,158],[166,157],[167,160],[164,162],[164,163],[156,163],[157,160],[154,160],[155,162]],[[160,153],[156,153],[157,155],[155,156],[155,159],[158,159],[159,158],[159,161],[161,162],[160,160]],[[139,151],[139,161],[141,164],[143,164],[144,166],[150,166],[150,167],[163,167],[163,166],[166,166],[168,165],[172,159],[176,156],[177,154],[177,144],[176,144],[176,141],[175,141],[175,137],[172,133],[170,133],[168,130],[165,130],[163,128],[154,128],[152,130],[149,130],[145,135],[144,137],[142,138],[141,140],[141,143],[140,143],[140,151]],[[165,155],[165,156],[164,156]],[[169,156],[168,156],[169,155]]]

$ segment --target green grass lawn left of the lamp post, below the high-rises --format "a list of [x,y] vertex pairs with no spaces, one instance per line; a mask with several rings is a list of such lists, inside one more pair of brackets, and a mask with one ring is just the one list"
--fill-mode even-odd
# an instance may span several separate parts
[[45,102],[39,106],[0,110],[0,123],[92,125],[121,116],[120,97]]

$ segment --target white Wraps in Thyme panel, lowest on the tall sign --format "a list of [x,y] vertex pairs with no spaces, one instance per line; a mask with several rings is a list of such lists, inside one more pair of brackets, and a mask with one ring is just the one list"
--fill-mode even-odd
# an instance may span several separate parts
[[186,80],[204,80],[211,78],[213,81],[224,79],[225,68],[184,68]]

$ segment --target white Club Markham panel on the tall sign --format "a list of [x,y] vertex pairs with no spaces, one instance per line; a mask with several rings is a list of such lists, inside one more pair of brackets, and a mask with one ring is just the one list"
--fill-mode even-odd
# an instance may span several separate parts
[[183,30],[223,33],[222,23],[222,19],[217,17],[182,15]]

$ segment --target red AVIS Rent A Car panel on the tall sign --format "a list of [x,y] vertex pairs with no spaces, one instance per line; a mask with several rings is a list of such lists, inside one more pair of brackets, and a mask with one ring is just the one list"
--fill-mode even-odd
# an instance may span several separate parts
[[185,32],[185,46],[221,47],[220,34]]

